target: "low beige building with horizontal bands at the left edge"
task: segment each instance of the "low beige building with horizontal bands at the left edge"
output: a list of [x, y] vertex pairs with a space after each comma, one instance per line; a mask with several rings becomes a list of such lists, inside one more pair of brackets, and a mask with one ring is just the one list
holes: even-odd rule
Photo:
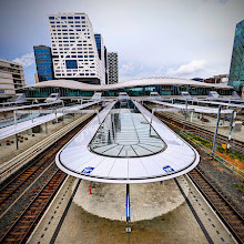
[[26, 85], [20, 63], [0, 59], [0, 98], [7, 99]]

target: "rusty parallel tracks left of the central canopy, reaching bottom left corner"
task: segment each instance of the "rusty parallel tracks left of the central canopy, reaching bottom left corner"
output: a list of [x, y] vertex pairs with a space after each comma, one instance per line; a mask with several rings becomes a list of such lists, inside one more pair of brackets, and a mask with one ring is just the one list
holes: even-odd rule
[[54, 162], [57, 152], [93, 116], [37, 156], [0, 186], [0, 243], [24, 243], [67, 174]]

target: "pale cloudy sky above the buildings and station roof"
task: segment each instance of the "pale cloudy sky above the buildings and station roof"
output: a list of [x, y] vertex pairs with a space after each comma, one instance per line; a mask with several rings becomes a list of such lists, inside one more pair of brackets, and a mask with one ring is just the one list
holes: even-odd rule
[[228, 73], [244, 0], [0, 0], [0, 58], [21, 62], [34, 83], [33, 45], [50, 45], [48, 14], [88, 13], [120, 80]]

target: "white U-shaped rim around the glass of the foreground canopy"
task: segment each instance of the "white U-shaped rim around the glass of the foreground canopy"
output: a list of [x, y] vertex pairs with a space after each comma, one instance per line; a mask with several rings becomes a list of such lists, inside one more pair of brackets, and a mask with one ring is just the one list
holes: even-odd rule
[[[99, 115], [103, 121], [115, 102], [108, 105]], [[151, 113], [134, 102], [148, 121]], [[166, 149], [150, 156], [109, 157], [89, 151], [88, 145], [100, 124], [95, 116], [77, 136], [60, 150], [57, 165], [65, 173], [88, 181], [104, 183], [149, 183], [180, 176], [194, 169], [199, 153], [177, 134], [153, 116], [152, 125]]]

